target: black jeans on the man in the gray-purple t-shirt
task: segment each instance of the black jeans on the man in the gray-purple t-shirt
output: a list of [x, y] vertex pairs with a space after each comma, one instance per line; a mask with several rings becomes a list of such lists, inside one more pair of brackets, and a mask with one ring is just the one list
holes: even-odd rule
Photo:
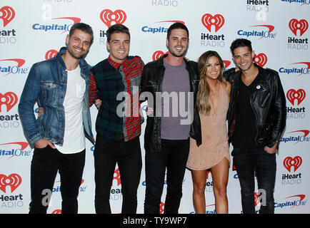
[[167, 191], [164, 213], [178, 213], [188, 157], [189, 140], [161, 140], [161, 151], [146, 151], [146, 195], [144, 213], [159, 214], [166, 172]]

